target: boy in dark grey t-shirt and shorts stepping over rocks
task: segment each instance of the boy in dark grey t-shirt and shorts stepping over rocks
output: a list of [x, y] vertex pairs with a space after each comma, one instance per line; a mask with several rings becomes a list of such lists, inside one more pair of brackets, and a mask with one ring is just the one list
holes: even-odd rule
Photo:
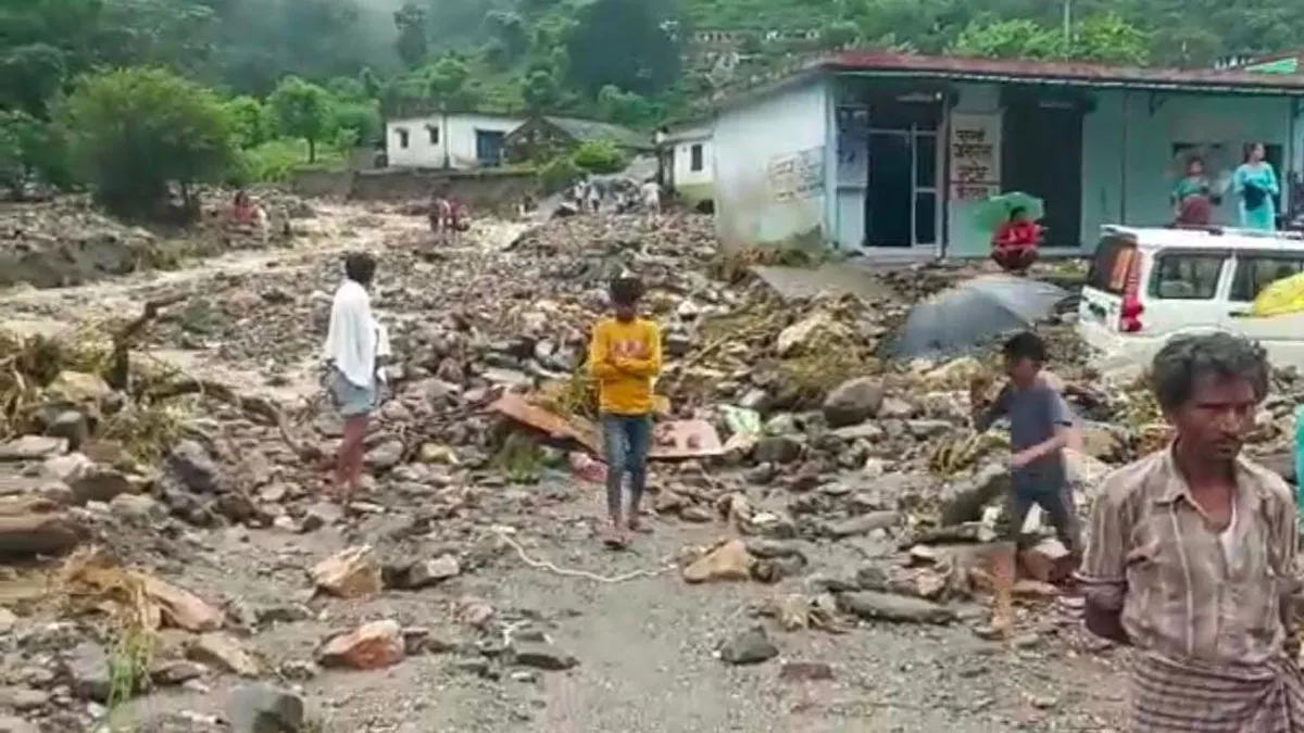
[[[1041, 373], [1046, 364], [1046, 343], [1037, 334], [1022, 333], [1011, 338], [1001, 353], [1009, 382], [990, 407], [977, 412], [974, 426], [985, 432], [998, 419], [1009, 419], [1013, 455], [1009, 458], [1009, 530], [1005, 540], [1015, 543], [1018, 539], [1028, 511], [1035, 503], [1046, 513], [1076, 563], [1082, 540], [1064, 468], [1064, 449], [1076, 442], [1073, 412]], [[998, 620], [994, 626], [1008, 623], [1008, 614], [1003, 613], [1008, 597], [1003, 597], [1003, 591], [1013, 586], [1015, 574], [1013, 552], [1008, 556], [996, 569]]]

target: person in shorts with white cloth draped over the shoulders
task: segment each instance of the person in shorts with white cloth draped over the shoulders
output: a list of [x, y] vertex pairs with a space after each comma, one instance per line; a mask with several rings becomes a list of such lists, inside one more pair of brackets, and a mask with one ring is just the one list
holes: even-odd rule
[[363, 480], [366, 424], [377, 406], [379, 357], [387, 352], [386, 334], [372, 314], [368, 288], [376, 277], [376, 258], [352, 253], [344, 258], [344, 282], [330, 309], [323, 357], [330, 368], [330, 390], [344, 417], [344, 434], [335, 468], [335, 494], [343, 503]]

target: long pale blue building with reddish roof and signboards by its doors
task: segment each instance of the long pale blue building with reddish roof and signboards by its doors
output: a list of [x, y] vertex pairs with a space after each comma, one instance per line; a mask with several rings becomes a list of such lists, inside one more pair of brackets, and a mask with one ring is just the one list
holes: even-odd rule
[[717, 104], [716, 226], [726, 248], [985, 256], [974, 209], [1024, 190], [1046, 202], [1047, 249], [1081, 253], [1102, 224], [1167, 223], [1192, 149], [1218, 175], [1262, 142], [1291, 180], [1301, 99], [1304, 76], [844, 52]]

